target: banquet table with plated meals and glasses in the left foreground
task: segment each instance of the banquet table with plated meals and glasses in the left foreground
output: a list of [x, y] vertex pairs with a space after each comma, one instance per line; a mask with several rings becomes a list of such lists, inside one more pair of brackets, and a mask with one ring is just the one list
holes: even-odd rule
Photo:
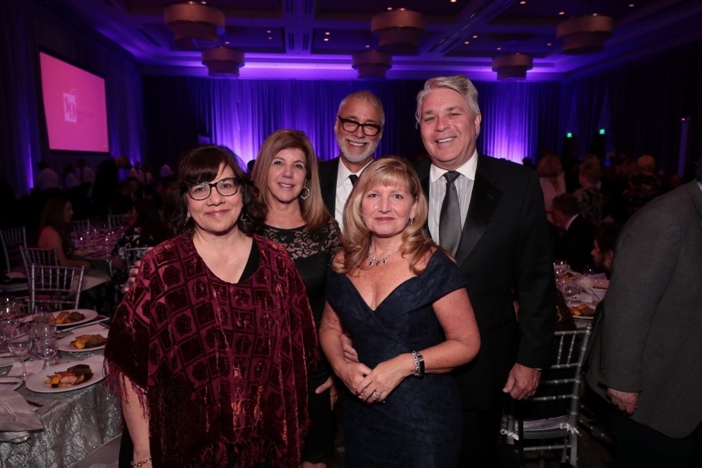
[[34, 312], [8, 319], [0, 308], [2, 467], [70, 466], [120, 433], [103, 381], [107, 317], [59, 325], [57, 312]]

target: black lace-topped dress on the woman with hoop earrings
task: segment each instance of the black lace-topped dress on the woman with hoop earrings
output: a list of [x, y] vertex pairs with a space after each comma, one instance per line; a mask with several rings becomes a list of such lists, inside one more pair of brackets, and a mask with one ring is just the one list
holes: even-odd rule
[[[330, 219], [322, 229], [307, 232], [305, 227], [282, 229], [264, 226], [260, 235], [285, 247], [307, 290], [307, 298], [312, 309], [314, 322], [319, 329], [324, 308], [324, 297], [329, 263], [341, 247], [339, 225]], [[309, 418], [310, 428], [305, 438], [302, 460], [323, 462], [333, 452], [336, 432], [334, 415], [329, 404], [329, 391], [316, 394], [314, 390], [331, 375], [329, 363], [322, 357], [316, 369], [309, 372]]]

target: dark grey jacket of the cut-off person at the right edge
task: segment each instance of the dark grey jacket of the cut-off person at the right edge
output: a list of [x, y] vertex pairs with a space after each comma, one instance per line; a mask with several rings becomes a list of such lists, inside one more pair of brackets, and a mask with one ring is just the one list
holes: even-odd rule
[[702, 190], [644, 205], [621, 232], [588, 383], [640, 392], [631, 418], [671, 438], [702, 421]]

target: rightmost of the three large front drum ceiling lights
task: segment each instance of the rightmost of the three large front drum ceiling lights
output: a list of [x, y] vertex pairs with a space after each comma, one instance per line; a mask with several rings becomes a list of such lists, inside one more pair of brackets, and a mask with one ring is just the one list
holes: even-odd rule
[[558, 24], [556, 37], [563, 42], [564, 54], [594, 54], [604, 49], [604, 40], [613, 32], [614, 18], [611, 16], [576, 16]]

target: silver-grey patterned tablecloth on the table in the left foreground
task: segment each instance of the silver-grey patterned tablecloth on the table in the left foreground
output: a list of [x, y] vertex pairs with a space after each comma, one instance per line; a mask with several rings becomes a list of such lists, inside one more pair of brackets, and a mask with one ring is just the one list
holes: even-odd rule
[[[64, 353], [62, 359], [82, 360], [102, 353]], [[10, 367], [0, 368], [5, 375]], [[43, 430], [30, 433], [21, 443], [0, 442], [0, 467], [60, 468], [83, 460], [90, 452], [121, 433], [120, 401], [101, 380], [88, 387], [61, 393], [16, 390], [25, 399], [42, 404], [35, 410]]]

